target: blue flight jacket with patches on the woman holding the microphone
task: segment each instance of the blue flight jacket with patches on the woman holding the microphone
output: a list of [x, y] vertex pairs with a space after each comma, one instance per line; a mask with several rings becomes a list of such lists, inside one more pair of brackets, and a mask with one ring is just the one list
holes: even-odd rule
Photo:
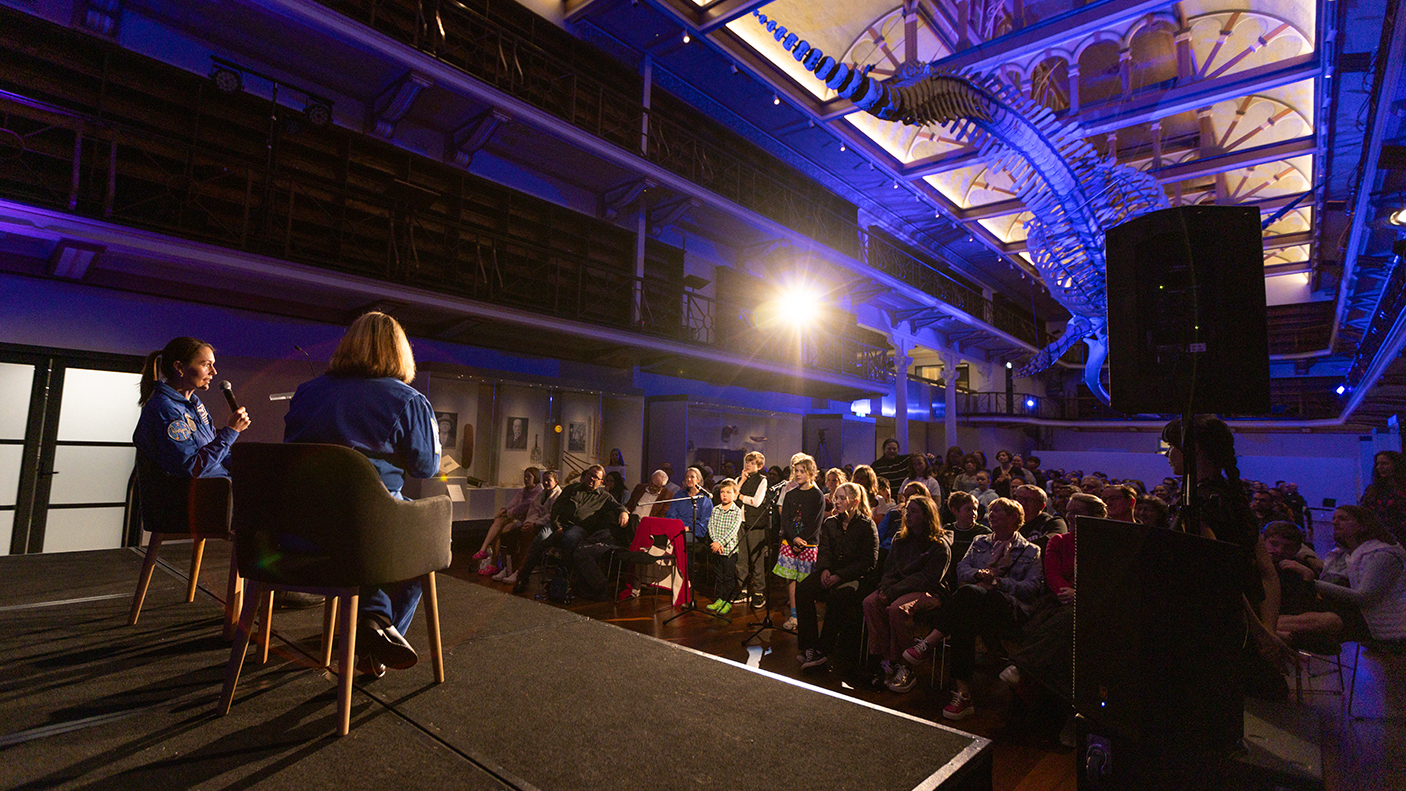
[[132, 431], [136, 450], [174, 478], [228, 478], [225, 458], [238, 437], [229, 426], [215, 429], [195, 393], [186, 398], [166, 382], [156, 384]]

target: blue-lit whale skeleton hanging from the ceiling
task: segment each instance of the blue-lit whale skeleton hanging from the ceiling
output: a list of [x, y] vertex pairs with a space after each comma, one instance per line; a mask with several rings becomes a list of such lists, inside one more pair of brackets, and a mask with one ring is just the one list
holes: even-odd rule
[[931, 65], [915, 77], [876, 80], [868, 69], [835, 60], [761, 11], [752, 17], [797, 62], [839, 97], [883, 121], [945, 125], [976, 148], [994, 171], [1011, 174], [1015, 194], [1033, 215], [1026, 247], [1050, 295], [1071, 319], [1064, 333], [1017, 375], [1038, 374], [1070, 347], [1088, 344], [1084, 382], [1104, 403], [1099, 370], [1108, 354], [1104, 230], [1167, 207], [1161, 187], [1139, 170], [1105, 160], [1073, 124], [990, 74]]

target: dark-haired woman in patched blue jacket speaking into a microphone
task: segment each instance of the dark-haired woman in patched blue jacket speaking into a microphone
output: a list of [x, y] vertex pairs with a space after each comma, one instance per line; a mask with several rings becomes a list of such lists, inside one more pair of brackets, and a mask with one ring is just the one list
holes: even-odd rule
[[132, 443], [138, 452], [173, 478], [229, 476], [225, 458], [239, 433], [249, 427], [240, 407], [215, 429], [195, 391], [208, 391], [215, 379], [215, 350], [193, 337], [177, 337], [146, 355]]

